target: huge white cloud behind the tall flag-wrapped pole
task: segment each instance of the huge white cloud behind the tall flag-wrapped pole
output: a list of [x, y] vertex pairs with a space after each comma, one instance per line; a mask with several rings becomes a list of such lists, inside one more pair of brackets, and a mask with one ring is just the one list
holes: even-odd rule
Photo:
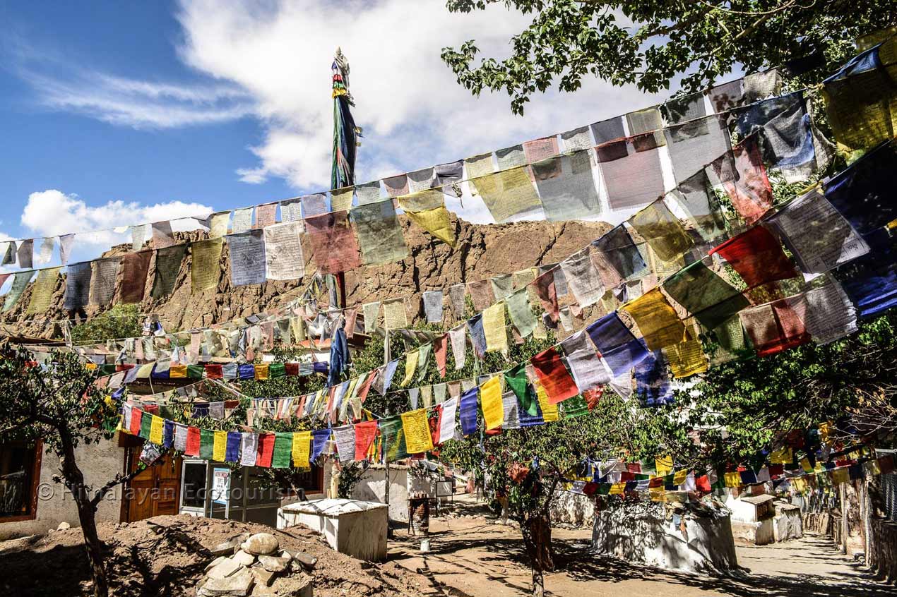
[[301, 189], [328, 186], [337, 45], [352, 67], [353, 114], [364, 128], [360, 180], [560, 133], [660, 97], [590, 79], [574, 94], [534, 96], [525, 117], [511, 115], [504, 94], [474, 98], [455, 82], [440, 49], [476, 39], [487, 56], [507, 54], [510, 36], [528, 19], [501, 5], [452, 14], [442, 2], [422, 0], [181, 0], [178, 16], [187, 65], [257, 101], [266, 136], [250, 148], [257, 164], [238, 172], [248, 183], [283, 177]]

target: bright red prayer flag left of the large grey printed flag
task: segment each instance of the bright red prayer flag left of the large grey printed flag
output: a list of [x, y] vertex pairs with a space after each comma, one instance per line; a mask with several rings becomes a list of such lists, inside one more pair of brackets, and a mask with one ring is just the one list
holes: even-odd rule
[[761, 226], [742, 232], [713, 248], [753, 288], [771, 281], [789, 280], [797, 276], [794, 265], [782, 250], [779, 239]]

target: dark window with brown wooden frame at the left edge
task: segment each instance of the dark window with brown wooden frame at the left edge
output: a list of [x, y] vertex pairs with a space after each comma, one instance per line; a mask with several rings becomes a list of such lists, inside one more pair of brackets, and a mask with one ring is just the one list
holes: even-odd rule
[[40, 448], [40, 442], [0, 444], [0, 523], [34, 519]]

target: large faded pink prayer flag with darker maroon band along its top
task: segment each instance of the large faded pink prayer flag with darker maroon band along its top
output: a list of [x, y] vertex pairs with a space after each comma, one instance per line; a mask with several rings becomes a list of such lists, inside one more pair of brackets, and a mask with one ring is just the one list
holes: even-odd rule
[[[636, 134], [595, 148], [607, 201], [612, 210], [640, 207], [664, 194], [664, 176], [658, 150], [664, 143], [659, 135]], [[632, 184], [635, 179], [639, 180], [638, 185]]]

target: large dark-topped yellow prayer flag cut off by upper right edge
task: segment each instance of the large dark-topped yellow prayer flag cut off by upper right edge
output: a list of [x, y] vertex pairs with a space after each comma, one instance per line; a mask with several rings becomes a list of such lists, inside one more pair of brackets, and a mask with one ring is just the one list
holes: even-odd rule
[[823, 82], [825, 112], [843, 150], [862, 150], [897, 134], [897, 39], [854, 56]]

